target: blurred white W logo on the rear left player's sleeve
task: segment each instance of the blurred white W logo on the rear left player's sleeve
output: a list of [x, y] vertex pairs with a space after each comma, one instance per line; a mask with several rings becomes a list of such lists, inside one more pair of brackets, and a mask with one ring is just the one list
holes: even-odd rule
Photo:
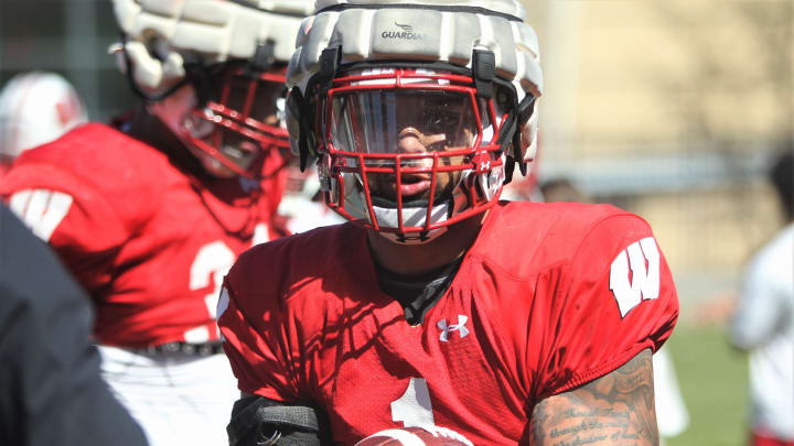
[[57, 191], [24, 189], [11, 196], [9, 207], [40, 239], [50, 241], [74, 199]]

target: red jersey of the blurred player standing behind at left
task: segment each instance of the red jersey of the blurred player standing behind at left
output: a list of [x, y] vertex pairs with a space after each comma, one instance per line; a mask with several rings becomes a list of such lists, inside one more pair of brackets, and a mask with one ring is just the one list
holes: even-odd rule
[[92, 295], [98, 341], [132, 348], [216, 339], [223, 276], [271, 237], [275, 208], [256, 187], [201, 182], [97, 123], [22, 153], [0, 196]]

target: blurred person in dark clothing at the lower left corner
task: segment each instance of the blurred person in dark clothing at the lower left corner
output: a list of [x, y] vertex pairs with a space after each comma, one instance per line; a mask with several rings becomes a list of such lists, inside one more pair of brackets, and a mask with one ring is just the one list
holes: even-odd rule
[[146, 445], [99, 377], [92, 320], [79, 285], [0, 204], [1, 445]]

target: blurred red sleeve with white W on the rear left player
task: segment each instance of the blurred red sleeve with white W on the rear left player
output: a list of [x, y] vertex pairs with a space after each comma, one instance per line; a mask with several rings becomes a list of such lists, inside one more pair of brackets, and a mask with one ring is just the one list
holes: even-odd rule
[[96, 187], [52, 164], [22, 163], [3, 177], [0, 196], [86, 290], [108, 284], [129, 231]]

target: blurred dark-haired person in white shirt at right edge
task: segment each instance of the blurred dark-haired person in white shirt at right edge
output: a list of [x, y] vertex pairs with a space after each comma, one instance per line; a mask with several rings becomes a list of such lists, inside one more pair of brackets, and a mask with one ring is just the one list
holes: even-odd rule
[[785, 224], [747, 265], [730, 323], [749, 352], [751, 446], [794, 445], [794, 145], [770, 171]]

